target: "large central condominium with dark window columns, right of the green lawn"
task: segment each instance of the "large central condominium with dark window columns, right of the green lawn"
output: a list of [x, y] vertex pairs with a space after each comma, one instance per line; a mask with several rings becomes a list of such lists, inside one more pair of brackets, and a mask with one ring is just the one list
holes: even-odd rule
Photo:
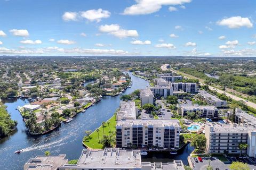
[[116, 146], [179, 148], [178, 120], [125, 120], [117, 121]]

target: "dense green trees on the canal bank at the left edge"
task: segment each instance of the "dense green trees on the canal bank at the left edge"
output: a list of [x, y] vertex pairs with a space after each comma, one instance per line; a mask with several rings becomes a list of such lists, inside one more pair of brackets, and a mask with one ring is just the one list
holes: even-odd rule
[[6, 111], [6, 106], [0, 102], [0, 139], [9, 135], [17, 126]]

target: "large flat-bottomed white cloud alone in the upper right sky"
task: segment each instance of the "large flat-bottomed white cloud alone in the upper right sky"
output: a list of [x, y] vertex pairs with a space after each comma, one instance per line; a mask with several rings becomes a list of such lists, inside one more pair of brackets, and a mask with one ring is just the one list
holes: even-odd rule
[[217, 21], [217, 24], [227, 26], [228, 28], [253, 27], [253, 24], [249, 18], [243, 18], [241, 16], [232, 16], [230, 18], [222, 19]]

